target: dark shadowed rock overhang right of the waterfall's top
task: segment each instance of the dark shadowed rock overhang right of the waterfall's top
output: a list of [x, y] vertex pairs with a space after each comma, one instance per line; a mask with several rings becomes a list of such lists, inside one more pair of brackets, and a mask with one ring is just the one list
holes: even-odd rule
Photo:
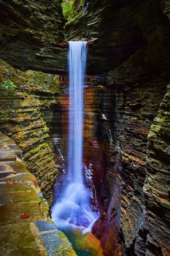
[[[143, 45], [150, 44], [152, 55], [153, 45], [161, 45], [163, 38], [169, 37], [169, 21], [163, 15], [163, 8], [169, 13], [169, 7], [163, 1], [83, 2], [82, 7], [76, 5], [72, 18], [66, 23], [65, 37], [93, 42], [89, 46], [89, 73], [114, 69]], [[169, 55], [166, 42], [161, 50]], [[164, 58], [167, 58], [166, 54], [163, 54]]]

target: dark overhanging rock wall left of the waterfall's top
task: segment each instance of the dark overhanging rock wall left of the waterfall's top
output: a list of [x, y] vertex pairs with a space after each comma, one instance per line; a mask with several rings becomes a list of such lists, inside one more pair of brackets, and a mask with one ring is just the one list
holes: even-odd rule
[[1, 59], [20, 69], [63, 72], [61, 1], [0, 1]]

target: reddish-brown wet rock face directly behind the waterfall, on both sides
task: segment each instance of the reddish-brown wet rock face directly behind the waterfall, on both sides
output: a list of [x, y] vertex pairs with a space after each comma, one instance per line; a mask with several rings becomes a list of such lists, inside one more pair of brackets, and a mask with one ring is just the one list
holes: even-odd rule
[[[50, 140], [53, 140], [53, 146], [58, 146], [66, 163], [69, 101], [68, 90], [64, 91], [65, 94], [58, 96], [60, 108], [55, 109], [52, 123], [48, 120], [47, 124], [53, 127], [50, 129]], [[84, 102], [83, 173], [90, 192], [92, 208], [106, 211], [103, 214], [105, 217], [96, 222], [93, 234], [101, 241], [104, 255], [121, 255], [123, 249], [117, 234], [120, 222], [120, 176], [113, 166], [119, 159], [119, 152], [115, 149], [115, 133], [120, 133], [122, 127], [123, 94], [119, 89], [111, 88], [104, 83], [98, 84], [96, 77], [92, 83], [85, 86]], [[56, 143], [57, 141], [59, 143]], [[57, 198], [66, 180], [66, 166], [62, 165], [58, 150], [55, 154], [58, 155], [56, 163], [59, 165], [55, 183]]]

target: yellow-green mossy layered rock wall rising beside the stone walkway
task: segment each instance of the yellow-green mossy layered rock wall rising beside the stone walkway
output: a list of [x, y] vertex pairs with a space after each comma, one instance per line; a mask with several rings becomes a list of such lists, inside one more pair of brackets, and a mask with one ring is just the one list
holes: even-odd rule
[[[49, 129], [46, 126], [43, 112], [50, 108], [51, 104], [56, 104], [55, 90], [58, 86], [47, 84], [52, 83], [53, 76], [51, 78], [49, 75], [37, 74], [37, 72], [31, 75], [20, 72], [4, 61], [1, 61], [0, 74], [1, 85], [13, 80], [16, 86], [14, 90], [0, 89], [1, 131], [15, 140], [15, 143], [22, 149], [23, 160], [28, 170], [36, 176], [43, 195], [51, 202], [57, 169], [53, 152], [46, 142]], [[49, 86], [50, 89], [48, 89]]]

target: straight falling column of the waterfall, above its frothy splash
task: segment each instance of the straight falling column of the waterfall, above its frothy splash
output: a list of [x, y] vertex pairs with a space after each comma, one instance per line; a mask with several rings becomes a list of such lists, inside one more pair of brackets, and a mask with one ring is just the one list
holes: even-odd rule
[[69, 175], [82, 184], [82, 108], [87, 42], [69, 42]]

